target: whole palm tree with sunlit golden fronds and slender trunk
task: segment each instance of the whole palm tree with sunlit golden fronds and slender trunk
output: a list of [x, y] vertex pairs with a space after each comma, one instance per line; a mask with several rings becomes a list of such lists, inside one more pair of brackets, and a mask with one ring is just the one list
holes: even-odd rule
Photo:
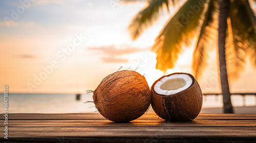
[[[133, 40], [152, 26], [162, 11], [181, 3], [178, 0], [145, 2], [147, 6], [135, 15], [129, 26]], [[224, 113], [233, 113], [228, 76], [237, 77], [247, 57], [256, 65], [255, 5], [256, 0], [186, 0], [155, 39], [152, 51], [157, 54], [156, 68], [162, 71], [173, 68], [184, 47], [196, 40], [192, 69], [199, 78], [218, 39]]]

